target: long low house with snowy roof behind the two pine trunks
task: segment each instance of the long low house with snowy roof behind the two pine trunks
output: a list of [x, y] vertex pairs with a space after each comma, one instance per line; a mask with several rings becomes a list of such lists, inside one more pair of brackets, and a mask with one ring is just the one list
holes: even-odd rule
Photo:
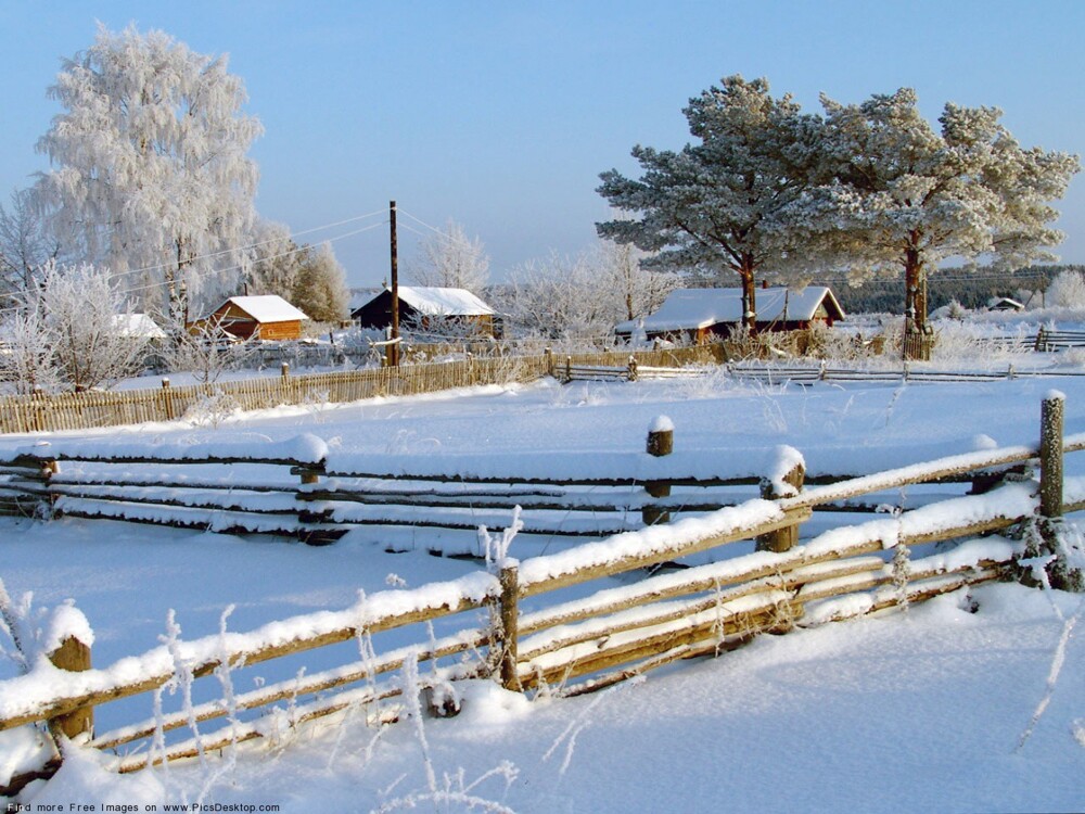
[[[844, 318], [844, 310], [824, 285], [762, 288], [756, 291], [758, 331], [794, 331], [814, 322], [829, 327]], [[742, 325], [741, 289], [677, 289], [660, 309], [614, 327], [618, 339], [690, 340], [698, 344], [726, 339]]]

